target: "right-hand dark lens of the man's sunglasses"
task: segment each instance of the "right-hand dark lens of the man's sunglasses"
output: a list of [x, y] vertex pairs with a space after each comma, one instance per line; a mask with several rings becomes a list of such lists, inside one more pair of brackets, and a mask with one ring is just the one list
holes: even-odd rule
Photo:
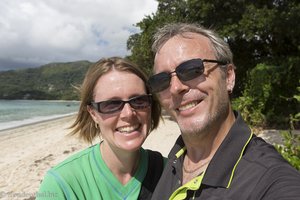
[[180, 64], [176, 68], [176, 74], [181, 81], [189, 81], [203, 74], [203, 62], [200, 59], [193, 59]]

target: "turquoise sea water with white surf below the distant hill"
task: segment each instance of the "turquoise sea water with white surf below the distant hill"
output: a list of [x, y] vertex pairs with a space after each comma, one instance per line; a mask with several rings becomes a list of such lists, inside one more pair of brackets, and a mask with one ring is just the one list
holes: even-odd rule
[[78, 101], [0, 100], [0, 130], [76, 113]]

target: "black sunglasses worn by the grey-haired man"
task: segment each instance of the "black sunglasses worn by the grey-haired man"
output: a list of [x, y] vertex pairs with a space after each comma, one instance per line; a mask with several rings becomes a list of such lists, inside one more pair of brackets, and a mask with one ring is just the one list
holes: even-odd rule
[[204, 72], [204, 62], [217, 63], [220, 65], [226, 65], [226, 62], [218, 60], [208, 59], [192, 59], [185, 61], [176, 67], [173, 72], [161, 72], [151, 76], [148, 80], [148, 86], [154, 93], [161, 92], [170, 86], [171, 77], [173, 73], [176, 73], [177, 77], [181, 81], [189, 81], [196, 77], [199, 77]]

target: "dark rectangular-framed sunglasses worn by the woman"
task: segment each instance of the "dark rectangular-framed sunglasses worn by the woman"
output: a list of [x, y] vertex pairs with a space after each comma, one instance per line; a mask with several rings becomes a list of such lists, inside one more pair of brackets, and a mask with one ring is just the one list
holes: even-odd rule
[[126, 103], [129, 103], [132, 108], [137, 110], [147, 108], [152, 103], [151, 94], [132, 97], [127, 101], [107, 100], [100, 102], [91, 102], [90, 105], [93, 106], [93, 108], [95, 108], [99, 113], [112, 114], [120, 112]]

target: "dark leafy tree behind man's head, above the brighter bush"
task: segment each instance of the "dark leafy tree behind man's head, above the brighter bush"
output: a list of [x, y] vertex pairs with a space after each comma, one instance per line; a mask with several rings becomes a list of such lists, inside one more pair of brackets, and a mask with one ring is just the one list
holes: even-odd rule
[[[170, 22], [199, 23], [215, 29], [226, 40], [237, 66], [237, 90], [244, 88], [247, 71], [258, 63], [285, 65], [287, 56], [299, 57], [296, 0], [158, 0], [158, 10], [136, 26], [141, 33], [130, 36], [129, 58], [150, 71], [153, 63], [152, 36], [158, 27]], [[295, 87], [294, 87], [295, 88]]]

